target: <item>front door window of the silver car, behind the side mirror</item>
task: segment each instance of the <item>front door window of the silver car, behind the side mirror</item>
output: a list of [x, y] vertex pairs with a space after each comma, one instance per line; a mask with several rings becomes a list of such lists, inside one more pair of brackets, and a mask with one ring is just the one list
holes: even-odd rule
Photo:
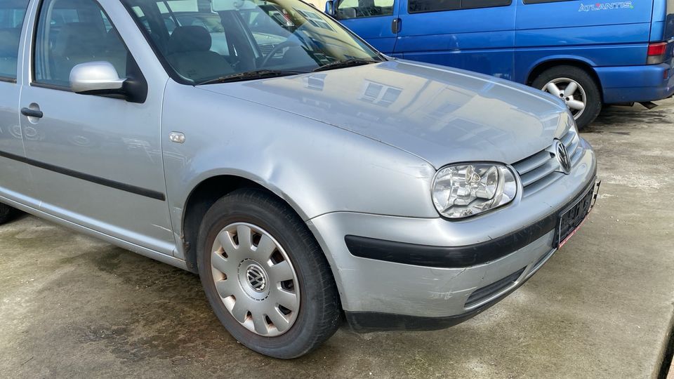
[[126, 77], [128, 51], [117, 29], [93, 0], [46, 0], [41, 6], [34, 51], [35, 81], [70, 87], [75, 65], [104, 60]]

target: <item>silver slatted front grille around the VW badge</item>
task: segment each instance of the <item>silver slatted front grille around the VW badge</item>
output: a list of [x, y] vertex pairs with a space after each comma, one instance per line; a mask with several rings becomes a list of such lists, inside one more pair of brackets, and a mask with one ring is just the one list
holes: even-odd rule
[[[575, 128], [570, 128], [560, 140], [567, 148], [569, 157], [571, 157], [571, 166], [576, 166], [576, 163], [581, 159], [583, 149], [580, 148], [581, 139]], [[557, 161], [552, 147], [550, 145], [547, 149], [513, 164], [517, 173], [520, 174], [522, 187], [524, 187], [524, 197], [548, 187], [555, 180], [564, 176], [560, 171], [560, 162]]]

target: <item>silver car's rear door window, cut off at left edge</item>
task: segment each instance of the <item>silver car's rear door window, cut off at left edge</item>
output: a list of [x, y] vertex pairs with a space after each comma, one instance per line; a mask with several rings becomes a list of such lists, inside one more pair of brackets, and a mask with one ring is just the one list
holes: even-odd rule
[[0, 78], [16, 80], [19, 39], [28, 0], [0, 1]]

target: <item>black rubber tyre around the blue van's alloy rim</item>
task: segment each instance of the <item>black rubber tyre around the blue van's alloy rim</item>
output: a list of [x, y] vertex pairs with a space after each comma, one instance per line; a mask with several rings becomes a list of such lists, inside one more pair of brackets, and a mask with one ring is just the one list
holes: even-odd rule
[[599, 86], [597, 86], [597, 81], [586, 70], [568, 65], [552, 67], [538, 75], [531, 83], [531, 86], [545, 91], [548, 83], [557, 80], [563, 83], [564, 79], [576, 81], [585, 92], [585, 109], [583, 109], [580, 117], [576, 119], [576, 125], [579, 130], [583, 129], [595, 121], [602, 110], [602, 94]]

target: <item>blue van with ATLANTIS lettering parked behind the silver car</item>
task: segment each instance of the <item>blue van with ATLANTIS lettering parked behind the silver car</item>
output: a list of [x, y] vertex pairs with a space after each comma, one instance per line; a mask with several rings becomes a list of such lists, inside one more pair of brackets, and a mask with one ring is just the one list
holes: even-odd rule
[[602, 104], [674, 93], [674, 0], [331, 0], [326, 13], [387, 55], [553, 93], [579, 127]]

